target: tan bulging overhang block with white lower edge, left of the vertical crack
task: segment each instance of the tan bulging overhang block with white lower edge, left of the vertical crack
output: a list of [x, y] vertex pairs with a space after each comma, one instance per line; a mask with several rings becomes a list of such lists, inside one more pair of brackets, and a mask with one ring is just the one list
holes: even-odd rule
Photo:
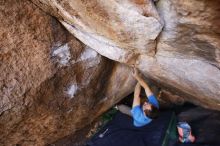
[[151, 0], [33, 0], [99, 54], [131, 63], [154, 55], [163, 21]]

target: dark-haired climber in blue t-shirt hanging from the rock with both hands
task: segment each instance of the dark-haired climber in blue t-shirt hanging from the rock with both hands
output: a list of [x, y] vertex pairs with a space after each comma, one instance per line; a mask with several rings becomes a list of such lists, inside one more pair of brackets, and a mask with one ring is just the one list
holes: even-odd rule
[[[134, 90], [132, 109], [126, 105], [118, 105], [117, 109], [124, 114], [132, 116], [134, 126], [142, 127], [150, 123], [152, 119], [157, 118], [159, 113], [159, 103], [148, 84], [142, 79], [136, 68], [133, 69], [132, 75], [138, 81]], [[145, 94], [148, 97], [148, 99], [144, 101], [143, 105], [141, 105], [140, 97], [141, 86], [144, 88]]]

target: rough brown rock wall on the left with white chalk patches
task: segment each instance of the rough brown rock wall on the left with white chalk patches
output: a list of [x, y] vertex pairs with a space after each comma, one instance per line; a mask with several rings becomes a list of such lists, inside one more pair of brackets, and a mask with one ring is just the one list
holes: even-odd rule
[[131, 92], [133, 78], [121, 73], [129, 68], [82, 44], [31, 2], [4, 1], [0, 11], [0, 145], [52, 143]]

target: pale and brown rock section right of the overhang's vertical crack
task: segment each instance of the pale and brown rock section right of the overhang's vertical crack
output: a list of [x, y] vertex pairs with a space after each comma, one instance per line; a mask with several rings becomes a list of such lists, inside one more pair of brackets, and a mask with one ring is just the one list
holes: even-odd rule
[[165, 25], [149, 73], [186, 100], [219, 110], [219, 1], [160, 0], [157, 8]]

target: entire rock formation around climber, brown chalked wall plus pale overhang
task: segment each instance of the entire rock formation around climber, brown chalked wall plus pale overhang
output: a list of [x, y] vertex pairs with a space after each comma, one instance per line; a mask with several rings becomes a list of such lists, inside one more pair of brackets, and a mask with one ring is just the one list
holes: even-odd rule
[[132, 92], [132, 64], [169, 101], [220, 110], [218, 0], [32, 2], [0, 2], [0, 145], [79, 130]]

